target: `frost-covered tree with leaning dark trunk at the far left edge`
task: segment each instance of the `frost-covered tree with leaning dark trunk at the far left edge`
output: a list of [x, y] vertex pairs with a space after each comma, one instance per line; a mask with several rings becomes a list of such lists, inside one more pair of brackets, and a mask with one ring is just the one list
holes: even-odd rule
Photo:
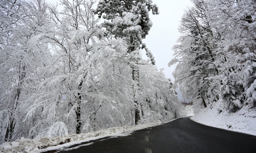
[[[23, 123], [27, 98], [35, 92], [40, 67], [47, 63], [47, 44], [42, 31], [47, 22], [44, 1], [0, 1], [0, 122], [1, 142], [26, 133]], [[5, 136], [4, 136], [5, 135]]]

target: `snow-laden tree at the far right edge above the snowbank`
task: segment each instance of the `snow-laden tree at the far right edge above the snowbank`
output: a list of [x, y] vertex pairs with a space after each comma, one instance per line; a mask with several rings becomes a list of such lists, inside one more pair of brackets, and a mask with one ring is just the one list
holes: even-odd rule
[[[210, 3], [222, 34], [220, 48], [227, 54], [223, 68], [221, 91], [226, 109], [236, 112], [243, 106], [255, 107], [256, 48], [254, 0], [222, 0]], [[224, 26], [223, 26], [224, 25]]]

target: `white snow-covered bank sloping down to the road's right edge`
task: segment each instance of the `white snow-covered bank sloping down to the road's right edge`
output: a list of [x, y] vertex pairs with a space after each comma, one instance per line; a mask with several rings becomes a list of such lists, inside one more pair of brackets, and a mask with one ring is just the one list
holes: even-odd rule
[[236, 113], [220, 112], [218, 107], [205, 108], [191, 117], [198, 123], [230, 131], [256, 135], [256, 110], [247, 107]]

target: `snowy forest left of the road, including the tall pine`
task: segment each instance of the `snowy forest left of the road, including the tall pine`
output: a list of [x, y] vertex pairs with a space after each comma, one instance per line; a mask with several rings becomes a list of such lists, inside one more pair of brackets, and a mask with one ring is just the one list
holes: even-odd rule
[[184, 116], [142, 41], [159, 13], [151, 0], [1, 0], [0, 10], [1, 143]]

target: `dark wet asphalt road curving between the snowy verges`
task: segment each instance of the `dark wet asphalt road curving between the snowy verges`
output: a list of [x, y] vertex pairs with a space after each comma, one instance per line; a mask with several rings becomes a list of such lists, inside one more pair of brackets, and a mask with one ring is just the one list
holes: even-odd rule
[[256, 136], [204, 126], [188, 117], [138, 130], [128, 136], [105, 138], [83, 144], [86, 143], [92, 144], [58, 152], [256, 153]]

